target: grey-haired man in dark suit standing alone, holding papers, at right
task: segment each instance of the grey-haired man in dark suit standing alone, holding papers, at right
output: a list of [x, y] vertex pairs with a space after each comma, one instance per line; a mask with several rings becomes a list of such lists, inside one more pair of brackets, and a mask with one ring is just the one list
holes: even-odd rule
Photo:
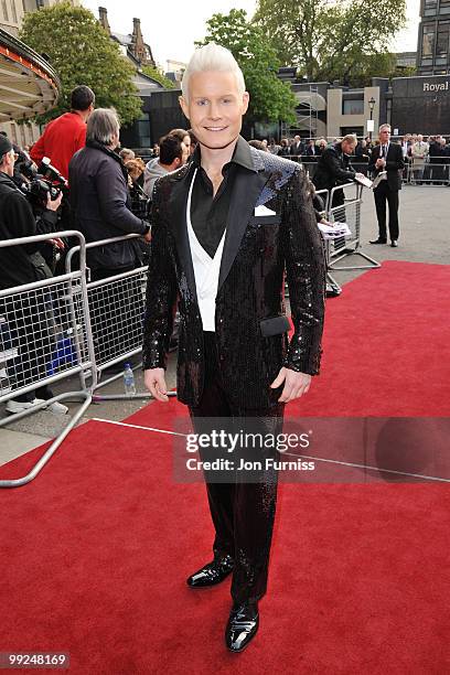
[[387, 244], [386, 231], [386, 202], [389, 206], [389, 237], [390, 246], [398, 246], [398, 191], [401, 190], [401, 174], [405, 169], [405, 160], [401, 146], [390, 142], [390, 126], [382, 125], [378, 130], [379, 144], [374, 148], [368, 170], [374, 178], [386, 171], [385, 180], [382, 180], [374, 189], [376, 217], [378, 219], [378, 238], [372, 239], [371, 244]]

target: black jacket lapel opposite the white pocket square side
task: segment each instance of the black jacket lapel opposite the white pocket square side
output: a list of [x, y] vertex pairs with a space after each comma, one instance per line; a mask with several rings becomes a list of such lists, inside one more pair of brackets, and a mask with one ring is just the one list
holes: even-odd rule
[[185, 274], [188, 287], [197, 302], [194, 266], [192, 262], [191, 246], [189, 244], [186, 205], [192, 171], [186, 172], [174, 181], [169, 201], [170, 225], [173, 231], [175, 246], [181, 267]]

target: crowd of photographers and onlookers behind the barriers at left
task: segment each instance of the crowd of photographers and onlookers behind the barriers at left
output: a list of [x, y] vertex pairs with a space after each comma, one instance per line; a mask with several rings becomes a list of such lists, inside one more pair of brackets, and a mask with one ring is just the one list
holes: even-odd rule
[[[92, 281], [125, 274], [148, 262], [148, 218], [153, 185], [158, 178], [189, 161], [195, 138], [184, 129], [171, 130], [153, 147], [152, 158], [146, 165], [132, 150], [120, 148], [119, 135], [120, 124], [115, 110], [95, 109], [94, 92], [86, 86], [73, 90], [71, 111], [50, 122], [31, 149], [18, 148], [2, 133], [0, 237], [12, 239], [76, 229], [87, 243], [96, 243], [128, 234], [140, 235], [89, 248], [87, 265]], [[50, 158], [50, 167], [44, 158]], [[45, 243], [0, 248], [0, 289], [62, 274], [66, 253], [77, 243], [57, 237]], [[135, 315], [133, 321], [141, 323], [139, 282], [129, 285], [127, 298], [124, 292], [120, 303], [116, 303], [101, 286], [93, 290], [92, 300], [101, 308], [92, 317], [98, 362], [116, 356], [111, 331], [125, 304], [130, 317]], [[8, 326], [8, 344], [20, 345], [17, 358], [6, 368], [9, 383], [15, 387], [30, 384], [32, 374], [36, 381], [46, 375], [49, 354], [43, 353], [43, 345], [52, 342], [54, 324], [54, 317], [44, 320], [52, 314], [51, 294], [34, 297], [30, 293], [25, 304], [23, 315], [19, 317], [15, 308], [0, 301], [2, 325]], [[2, 332], [2, 342], [3, 334], [7, 333]], [[38, 341], [34, 340], [36, 335]], [[53, 392], [49, 387], [38, 387], [8, 400], [7, 411], [21, 413], [51, 398]], [[57, 414], [68, 410], [57, 401], [46, 409]]]

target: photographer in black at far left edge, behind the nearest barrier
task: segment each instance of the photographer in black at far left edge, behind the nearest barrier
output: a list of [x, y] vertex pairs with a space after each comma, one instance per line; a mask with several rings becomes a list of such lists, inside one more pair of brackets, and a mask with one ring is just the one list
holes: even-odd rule
[[[14, 239], [55, 229], [60, 194], [53, 202], [47, 197], [46, 208], [39, 218], [23, 192], [13, 181], [17, 153], [11, 141], [0, 136], [0, 238]], [[0, 288], [8, 289], [52, 277], [52, 272], [40, 253], [40, 244], [0, 248]], [[0, 302], [0, 314], [6, 318], [11, 344], [18, 349], [18, 358], [8, 366], [13, 385], [30, 384], [30, 376], [40, 378], [46, 373], [42, 344], [51, 342], [51, 321], [43, 296], [30, 292], [21, 298], [18, 307], [7, 300]], [[41, 350], [41, 352], [40, 352]], [[41, 387], [11, 399], [9, 413], [20, 413], [31, 406], [52, 398], [49, 387]], [[49, 406], [52, 413], [65, 414], [67, 407], [55, 401]]]

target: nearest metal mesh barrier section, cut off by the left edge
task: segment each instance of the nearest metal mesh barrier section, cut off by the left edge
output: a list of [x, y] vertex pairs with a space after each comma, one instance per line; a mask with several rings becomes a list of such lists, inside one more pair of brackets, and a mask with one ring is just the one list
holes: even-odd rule
[[[79, 240], [78, 271], [0, 290], [0, 403], [86, 371], [92, 371], [93, 388], [96, 386], [83, 235], [65, 231], [0, 242], [0, 247], [40, 244], [55, 237]], [[1, 480], [0, 488], [24, 485], [39, 474], [90, 405], [92, 390], [60, 394], [0, 420], [0, 427], [4, 427], [68, 398], [79, 399], [82, 405], [63, 431], [26, 475]]]

